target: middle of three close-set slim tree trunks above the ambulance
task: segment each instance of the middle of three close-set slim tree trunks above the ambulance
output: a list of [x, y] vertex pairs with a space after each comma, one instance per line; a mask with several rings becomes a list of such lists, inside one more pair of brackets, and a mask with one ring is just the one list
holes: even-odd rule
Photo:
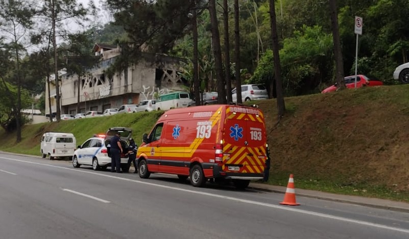
[[223, 20], [224, 20], [224, 61], [225, 61], [225, 81], [227, 102], [232, 102], [231, 79], [230, 79], [230, 39], [229, 39], [229, 6], [227, 0], [223, 0]]

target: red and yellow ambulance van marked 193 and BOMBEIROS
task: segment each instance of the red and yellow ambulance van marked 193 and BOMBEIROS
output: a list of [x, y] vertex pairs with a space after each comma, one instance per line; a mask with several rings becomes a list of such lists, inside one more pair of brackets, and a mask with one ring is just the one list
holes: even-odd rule
[[244, 189], [262, 179], [267, 154], [264, 115], [241, 105], [202, 105], [166, 111], [138, 148], [138, 173], [190, 177], [195, 187], [208, 179], [231, 179]]

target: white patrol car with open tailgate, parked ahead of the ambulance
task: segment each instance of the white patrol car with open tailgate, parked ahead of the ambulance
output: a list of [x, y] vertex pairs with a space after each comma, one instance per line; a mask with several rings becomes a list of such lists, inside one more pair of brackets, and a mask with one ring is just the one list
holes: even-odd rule
[[[126, 152], [128, 140], [132, 136], [132, 129], [124, 127], [109, 128], [105, 135], [94, 135], [78, 146], [73, 155], [73, 166], [79, 168], [81, 165], [89, 165], [92, 166], [93, 170], [105, 170], [110, 167], [109, 143], [117, 132], [121, 135], [121, 145]], [[125, 153], [121, 154], [121, 168], [124, 172], [129, 171], [128, 156], [125, 156]]]

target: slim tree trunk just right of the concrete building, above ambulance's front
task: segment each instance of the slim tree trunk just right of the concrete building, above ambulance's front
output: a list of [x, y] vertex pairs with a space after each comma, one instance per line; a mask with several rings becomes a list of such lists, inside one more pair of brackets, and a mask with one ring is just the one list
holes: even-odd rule
[[196, 9], [194, 10], [193, 23], [193, 87], [195, 91], [196, 105], [201, 105], [200, 99], [200, 80], [199, 80], [199, 63], [198, 63], [198, 16]]

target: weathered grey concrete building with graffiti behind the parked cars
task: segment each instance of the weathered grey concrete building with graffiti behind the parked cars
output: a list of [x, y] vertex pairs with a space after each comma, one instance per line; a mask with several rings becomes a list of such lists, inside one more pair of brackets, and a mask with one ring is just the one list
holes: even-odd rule
[[[120, 53], [119, 48], [111, 45], [95, 44], [95, 56], [101, 56], [100, 62], [88, 69], [78, 80], [78, 75], [61, 71], [60, 100], [61, 114], [75, 115], [79, 102], [80, 112], [104, 111], [119, 108], [122, 104], [139, 103], [144, 99], [153, 99], [156, 95], [180, 91], [188, 83], [179, 73], [183, 59], [169, 56], [143, 53], [142, 59], [122, 72], [115, 72], [112, 77], [106, 69]], [[51, 108], [56, 110], [55, 77], [51, 77]], [[78, 91], [78, 84], [80, 90]], [[47, 94], [46, 84], [46, 94]], [[79, 99], [78, 99], [79, 96]], [[49, 110], [49, 99], [45, 97], [45, 109]]]

